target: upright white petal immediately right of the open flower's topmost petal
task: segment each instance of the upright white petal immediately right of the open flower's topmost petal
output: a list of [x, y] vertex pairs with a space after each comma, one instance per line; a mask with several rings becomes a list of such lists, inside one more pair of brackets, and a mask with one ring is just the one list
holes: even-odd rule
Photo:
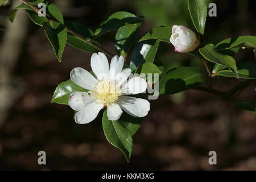
[[123, 69], [123, 56], [114, 56], [110, 63], [110, 80], [115, 80], [115, 76]]

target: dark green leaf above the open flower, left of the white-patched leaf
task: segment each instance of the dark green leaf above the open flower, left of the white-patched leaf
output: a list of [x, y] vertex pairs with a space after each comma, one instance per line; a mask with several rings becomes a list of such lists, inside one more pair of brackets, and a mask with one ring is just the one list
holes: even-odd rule
[[133, 46], [140, 26], [141, 23], [136, 23], [118, 29], [117, 34], [115, 34], [115, 49], [117, 49], [119, 55], [127, 56], [131, 46]]

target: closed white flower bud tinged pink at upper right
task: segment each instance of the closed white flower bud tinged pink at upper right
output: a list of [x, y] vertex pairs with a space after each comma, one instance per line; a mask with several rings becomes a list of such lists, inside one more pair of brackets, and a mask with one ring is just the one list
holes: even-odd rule
[[177, 25], [172, 26], [170, 42], [174, 45], [176, 52], [190, 52], [200, 44], [200, 40], [192, 30]]

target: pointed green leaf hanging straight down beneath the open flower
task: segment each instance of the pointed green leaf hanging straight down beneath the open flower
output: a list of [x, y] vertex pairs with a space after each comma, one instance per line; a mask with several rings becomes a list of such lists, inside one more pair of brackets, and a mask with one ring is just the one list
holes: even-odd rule
[[131, 151], [133, 150], [131, 132], [121, 122], [109, 121], [106, 110], [102, 117], [102, 127], [109, 143], [119, 148], [125, 155], [127, 162], [130, 162]]

